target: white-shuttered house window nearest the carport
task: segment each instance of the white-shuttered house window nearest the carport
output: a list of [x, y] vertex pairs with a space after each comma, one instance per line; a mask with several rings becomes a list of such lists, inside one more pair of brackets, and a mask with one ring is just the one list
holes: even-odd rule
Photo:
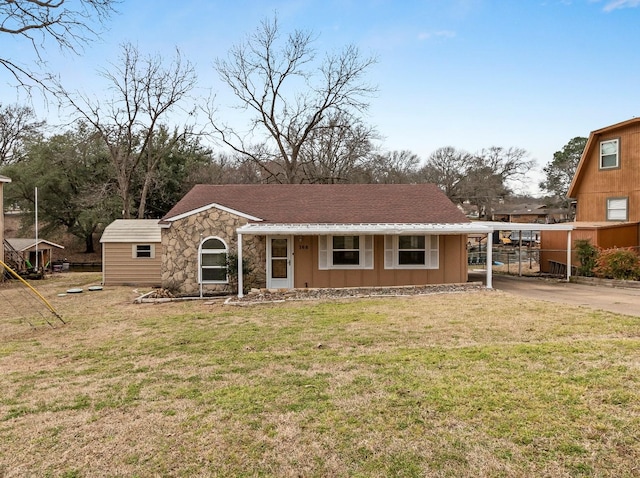
[[385, 269], [437, 269], [439, 236], [384, 237]]

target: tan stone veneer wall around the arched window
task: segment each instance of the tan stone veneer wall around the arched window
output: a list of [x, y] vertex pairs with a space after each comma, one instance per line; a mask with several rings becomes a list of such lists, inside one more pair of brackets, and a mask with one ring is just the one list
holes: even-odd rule
[[[208, 237], [219, 237], [226, 242], [230, 254], [238, 252], [236, 229], [248, 221], [240, 216], [211, 208], [173, 221], [162, 230], [162, 287], [180, 295], [198, 295], [198, 249]], [[242, 236], [242, 255], [252, 268], [244, 276], [244, 286], [265, 287], [266, 247], [262, 236]], [[204, 284], [205, 292], [237, 293], [234, 284]]]

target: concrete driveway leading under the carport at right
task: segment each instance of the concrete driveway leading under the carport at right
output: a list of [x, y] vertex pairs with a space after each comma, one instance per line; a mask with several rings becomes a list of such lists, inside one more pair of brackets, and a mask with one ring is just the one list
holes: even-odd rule
[[[469, 273], [469, 280], [482, 281], [484, 273]], [[557, 279], [493, 275], [493, 288], [532, 299], [601, 309], [640, 317], [640, 289], [574, 284]]]

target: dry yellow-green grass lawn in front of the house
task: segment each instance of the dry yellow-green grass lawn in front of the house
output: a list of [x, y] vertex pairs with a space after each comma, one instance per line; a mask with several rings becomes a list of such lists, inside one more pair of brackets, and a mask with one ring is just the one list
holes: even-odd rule
[[54, 327], [0, 286], [2, 477], [640, 476], [636, 318], [496, 291], [134, 305], [99, 280], [35, 284]]

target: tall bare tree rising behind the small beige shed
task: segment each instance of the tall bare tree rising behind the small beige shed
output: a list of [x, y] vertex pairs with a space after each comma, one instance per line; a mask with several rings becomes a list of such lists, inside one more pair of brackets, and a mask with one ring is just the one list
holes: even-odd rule
[[[153, 175], [167, 148], [172, 148], [188, 134], [186, 127], [180, 133], [176, 131], [173, 135], [165, 134], [164, 138], [155, 139], [156, 135], [164, 134], [160, 130], [161, 121], [180, 106], [195, 86], [196, 74], [178, 50], [165, 65], [159, 55], [142, 58], [136, 47], [125, 44], [120, 61], [101, 73], [110, 84], [113, 95], [110, 100], [100, 102], [62, 87], [57, 94], [98, 131], [107, 145], [116, 171], [122, 216], [130, 218], [132, 185], [141, 164], [145, 165], [145, 174]], [[146, 179], [143, 184], [147, 184]], [[139, 218], [145, 214], [147, 191], [148, 188], [143, 188], [139, 198]]]

